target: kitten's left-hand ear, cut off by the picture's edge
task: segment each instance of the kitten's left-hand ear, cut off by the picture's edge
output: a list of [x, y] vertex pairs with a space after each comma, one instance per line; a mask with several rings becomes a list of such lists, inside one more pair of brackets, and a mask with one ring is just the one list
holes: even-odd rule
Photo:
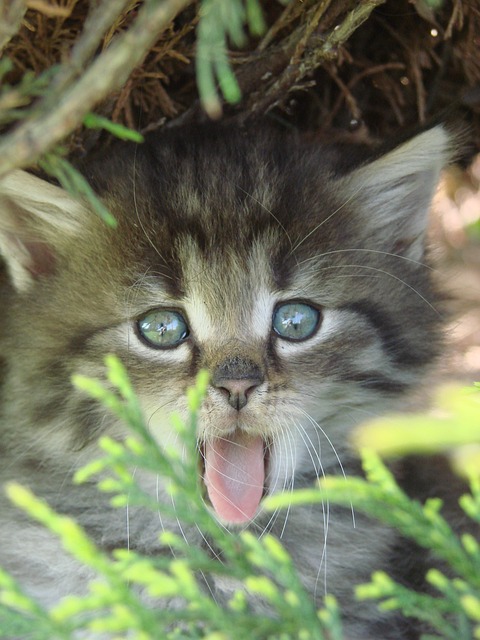
[[25, 171], [0, 180], [0, 255], [18, 291], [54, 271], [56, 251], [85, 214], [66, 191]]

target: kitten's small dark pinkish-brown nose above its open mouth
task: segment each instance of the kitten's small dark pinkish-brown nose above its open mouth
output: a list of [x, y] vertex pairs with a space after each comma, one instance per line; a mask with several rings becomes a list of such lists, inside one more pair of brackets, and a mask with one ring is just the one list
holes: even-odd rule
[[255, 362], [242, 356], [233, 356], [216, 368], [212, 386], [227, 395], [230, 406], [240, 411], [263, 380], [262, 371]]

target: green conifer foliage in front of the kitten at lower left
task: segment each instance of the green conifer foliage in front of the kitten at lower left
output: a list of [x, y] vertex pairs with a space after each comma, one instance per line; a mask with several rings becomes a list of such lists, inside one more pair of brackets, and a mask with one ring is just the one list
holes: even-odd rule
[[[143, 468], [168, 477], [168, 491], [175, 499], [175, 508], [171, 500], [167, 501], [160, 507], [162, 516], [170, 515], [175, 521], [179, 518], [183, 525], [198, 525], [212, 540], [222, 560], [212, 559], [206, 550], [190, 546], [172, 532], [161, 535], [162, 542], [172, 550], [172, 557], [146, 558], [125, 549], [114, 551], [110, 557], [70, 518], [55, 514], [30, 491], [11, 484], [7, 490], [12, 501], [53, 531], [63, 547], [96, 577], [87, 595], [66, 596], [46, 611], [1, 573], [0, 637], [9, 637], [21, 628], [21, 637], [32, 640], [68, 638], [74, 630], [142, 640], [159, 637], [340, 640], [335, 600], [329, 598], [320, 612], [315, 610], [278, 540], [268, 534], [257, 539], [250, 532], [228, 533], [205, 507], [199, 488], [195, 438], [196, 416], [208, 382], [205, 373], [199, 375], [196, 388], [188, 392], [189, 423], [183, 424], [178, 417], [173, 419], [185, 445], [181, 458], [176, 450], [163, 451], [157, 447], [123, 366], [113, 357], [108, 358], [107, 364], [109, 386], [114, 391], [81, 376], [76, 376], [74, 382], [128, 422], [135, 435], [124, 443], [103, 438], [100, 446], [104, 456], [81, 470], [76, 481], [100, 474], [99, 489], [112, 493], [112, 504], [138, 505], [157, 513], [157, 499], [138, 486], [132, 469]], [[226, 607], [219, 606], [205, 589], [204, 577], [213, 573], [238, 581], [239, 587]], [[158, 606], [145, 605], [140, 591]], [[247, 593], [263, 599], [278, 616], [253, 613]], [[172, 601], [175, 606], [167, 607]]]

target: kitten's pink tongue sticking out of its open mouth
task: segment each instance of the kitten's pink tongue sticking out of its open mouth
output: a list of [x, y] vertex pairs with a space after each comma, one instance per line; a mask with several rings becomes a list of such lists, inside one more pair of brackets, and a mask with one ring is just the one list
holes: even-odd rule
[[226, 522], [248, 522], [263, 494], [263, 440], [242, 431], [205, 443], [205, 485], [216, 513]]

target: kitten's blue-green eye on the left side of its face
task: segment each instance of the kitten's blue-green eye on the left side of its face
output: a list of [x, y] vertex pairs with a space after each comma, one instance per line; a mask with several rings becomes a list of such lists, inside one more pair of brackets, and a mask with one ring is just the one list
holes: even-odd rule
[[137, 320], [142, 338], [152, 347], [168, 349], [178, 346], [188, 336], [188, 325], [178, 311], [155, 309]]

